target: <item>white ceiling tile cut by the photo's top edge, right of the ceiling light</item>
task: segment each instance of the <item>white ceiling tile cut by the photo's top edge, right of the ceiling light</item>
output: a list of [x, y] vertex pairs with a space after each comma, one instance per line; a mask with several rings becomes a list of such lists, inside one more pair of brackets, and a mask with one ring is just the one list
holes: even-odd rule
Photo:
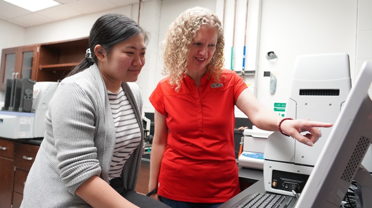
[[80, 0], [65, 5], [84, 14], [102, 12], [116, 7], [116, 5], [110, 1], [103, 0]]

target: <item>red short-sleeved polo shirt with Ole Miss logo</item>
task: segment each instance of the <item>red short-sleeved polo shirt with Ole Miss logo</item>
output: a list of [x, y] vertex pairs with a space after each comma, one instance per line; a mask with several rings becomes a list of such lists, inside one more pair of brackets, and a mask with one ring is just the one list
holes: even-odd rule
[[167, 116], [169, 128], [158, 179], [160, 196], [218, 203], [239, 193], [234, 105], [246, 88], [231, 70], [224, 70], [219, 82], [204, 75], [199, 89], [188, 76], [179, 92], [168, 84], [168, 78], [158, 83], [150, 102]]

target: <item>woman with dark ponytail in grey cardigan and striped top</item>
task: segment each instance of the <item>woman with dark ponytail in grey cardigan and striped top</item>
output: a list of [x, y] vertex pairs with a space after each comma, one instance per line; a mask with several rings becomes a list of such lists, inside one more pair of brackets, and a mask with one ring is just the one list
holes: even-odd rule
[[21, 207], [167, 207], [134, 191], [144, 144], [134, 82], [148, 38], [122, 14], [97, 19], [86, 58], [49, 103]]

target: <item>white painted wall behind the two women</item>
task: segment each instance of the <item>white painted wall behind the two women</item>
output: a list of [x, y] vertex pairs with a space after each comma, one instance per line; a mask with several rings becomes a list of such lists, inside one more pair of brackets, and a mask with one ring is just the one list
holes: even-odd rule
[[[325, 2], [329, 2], [325, 4]], [[357, 2], [357, 3], [356, 3]], [[230, 68], [230, 51], [232, 46], [232, 22], [234, 18], [234, 1], [225, 0], [225, 68]], [[139, 4], [119, 7], [105, 13], [119, 12], [138, 18]], [[166, 27], [183, 10], [192, 6], [209, 7], [223, 19], [224, 0], [153, 0], [141, 3], [140, 25], [151, 33], [148, 45], [146, 64], [142, 69], [137, 83], [140, 85], [144, 97], [144, 111], [153, 112], [148, 102], [152, 90], [157, 82], [163, 78], [160, 74], [161, 50], [160, 42], [164, 38]], [[343, 13], [343, 15], [339, 15]], [[74, 39], [89, 35], [94, 21], [104, 13], [90, 14], [70, 20], [45, 24], [41, 26], [23, 28], [0, 20], [0, 49], [33, 43], [45, 43], [58, 40]], [[327, 15], [328, 14], [328, 15]], [[332, 15], [336, 14], [337, 19]], [[237, 0], [234, 69], [241, 70], [244, 24], [246, 15], [246, 0]], [[280, 20], [280, 21], [279, 21]], [[296, 23], [296, 21], [302, 20]], [[334, 20], [334, 25], [330, 25]], [[274, 24], [279, 22], [280, 27]], [[245, 81], [259, 100], [272, 109], [273, 102], [286, 102], [288, 93], [288, 76], [293, 69], [295, 55], [318, 52], [347, 52], [350, 55], [351, 68], [358, 72], [362, 62], [372, 60], [372, 2], [370, 0], [249, 0], [248, 23], [246, 38], [246, 70], [256, 70], [255, 76], [246, 76]], [[347, 28], [347, 34], [327, 35], [330, 28], [341, 31], [342, 25], [353, 25]], [[262, 28], [261, 28], [262, 27]], [[308, 30], [312, 28], [312, 30]], [[304, 31], [318, 34], [311, 37]], [[344, 31], [345, 32], [345, 31]], [[303, 35], [307, 38], [298, 38]], [[273, 36], [274, 40], [270, 37]], [[347, 37], [347, 38], [346, 38]], [[315, 41], [316, 40], [316, 41]], [[327, 42], [330, 43], [327, 43]], [[324, 46], [329, 45], [327, 47]], [[301, 47], [299, 47], [301, 46]], [[290, 49], [293, 49], [292, 51]], [[323, 49], [323, 51], [321, 51]], [[266, 52], [278, 53], [277, 63], [266, 63]], [[276, 51], [278, 50], [278, 51]], [[276, 73], [278, 78], [277, 91], [274, 95], [268, 92], [268, 81], [262, 77], [263, 71]], [[355, 73], [352, 76], [355, 76]], [[288, 75], [289, 74], [289, 75]], [[4, 100], [4, 91], [0, 91], [0, 101]], [[245, 117], [239, 111], [237, 117]]]

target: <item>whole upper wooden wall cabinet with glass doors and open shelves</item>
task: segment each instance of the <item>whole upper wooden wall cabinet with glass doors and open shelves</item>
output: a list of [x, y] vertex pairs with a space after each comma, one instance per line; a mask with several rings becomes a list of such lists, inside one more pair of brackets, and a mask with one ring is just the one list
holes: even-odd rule
[[88, 38], [78, 38], [3, 49], [0, 90], [5, 90], [6, 80], [13, 77], [36, 82], [62, 80], [84, 59], [88, 47]]

